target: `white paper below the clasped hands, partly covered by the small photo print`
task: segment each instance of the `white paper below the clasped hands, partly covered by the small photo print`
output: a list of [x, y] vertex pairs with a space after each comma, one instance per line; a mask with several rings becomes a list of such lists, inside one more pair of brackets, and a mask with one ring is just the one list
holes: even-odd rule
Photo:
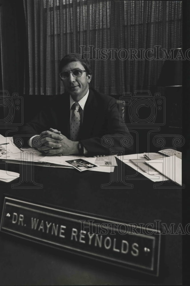
[[63, 166], [71, 166], [69, 163], [65, 162], [68, 160], [77, 160], [77, 159], [83, 159], [83, 160], [88, 160], [91, 163], [95, 163], [96, 157], [85, 157], [85, 156], [76, 156], [76, 155], [69, 155], [69, 156], [45, 156], [39, 161], [41, 162], [48, 162], [48, 163], [53, 163], [53, 164], [58, 164], [58, 165], [63, 165]]

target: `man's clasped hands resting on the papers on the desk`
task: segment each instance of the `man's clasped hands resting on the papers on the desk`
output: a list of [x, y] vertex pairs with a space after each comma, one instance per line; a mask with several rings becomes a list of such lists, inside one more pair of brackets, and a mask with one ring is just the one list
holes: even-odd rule
[[42, 139], [40, 147], [37, 149], [46, 154], [46, 156], [61, 156], [78, 154], [77, 141], [71, 141], [57, 129], [43, 131], [39, 135]]

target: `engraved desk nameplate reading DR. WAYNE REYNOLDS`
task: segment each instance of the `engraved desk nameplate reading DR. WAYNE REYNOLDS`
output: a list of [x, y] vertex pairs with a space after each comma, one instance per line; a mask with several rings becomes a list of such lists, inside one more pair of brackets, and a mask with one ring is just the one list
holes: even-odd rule
[[0, 231], [159, 276], [159, 230], [5, 197]]

